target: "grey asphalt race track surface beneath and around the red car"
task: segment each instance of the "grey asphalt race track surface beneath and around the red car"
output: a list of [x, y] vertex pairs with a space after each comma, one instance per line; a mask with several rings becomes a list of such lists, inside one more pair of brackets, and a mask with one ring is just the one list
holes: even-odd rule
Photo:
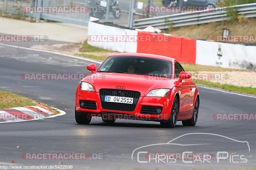
[[[86, 73], [91, 61], [47, 52], [32, 51], [0, 45], [0, 89], [18, 92], [36, 101], [66, 111], [66, 115], [28, 121], [0, 124], [0, 165], [15, 160], [19, 165], [58, 165], [60, 160], [26, 160], [22, 153], [102, 153], [103, 159], [61, 160], [75, 169], [192, 169], [255, 167], [255, 120], [214, 120], [214, 113], [256, 113], [256, 98], [199, 87], [199, 118], [195, 127], [182, 126], [164, 129], [157, 122], [117, 120], [114, 124], [94, 120], [89, 125], [76, 124], [74, 100], [79, 80], [34, 81], [22, 80], [23, 73]], [[96, 64], [97, 67], [99, 63]], [[180, 143], [211, 143], [214, 146], [192, 145], [193, 152], [214, 152], [226, 149], [228, 153], [244, 151], [247, 163], [138, 163], [131, 159], [134, 149], [150, 144], [167, 143], [186, 133], [214, 133], [239, 141], [248, 141], [248, 148], [206, 134], [182, 137]], [[20, 148], [16, 148], [20, 145]], [[217, 147], [218, 146], [218, 147]], [[245, 149], [244, 149], [245, 148]], [[155, 150], [154, 152], [158, 152]], [[167, 152], [167, 151], [166, 151]], [[181, 152], [172, 146], [172, 152]]]

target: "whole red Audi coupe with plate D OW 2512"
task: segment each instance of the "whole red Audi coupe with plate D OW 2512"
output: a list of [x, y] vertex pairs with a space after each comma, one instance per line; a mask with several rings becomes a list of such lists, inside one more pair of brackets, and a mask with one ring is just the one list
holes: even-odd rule
[[115, 53], [84, 77], [76, 89], [75, 118], [89, 124], [92, 117], [114, 123], [117, 118], [160, 122], [173, 128], [177, 121], [195, 126], [199, 93], [180, 63], [170, 57]]

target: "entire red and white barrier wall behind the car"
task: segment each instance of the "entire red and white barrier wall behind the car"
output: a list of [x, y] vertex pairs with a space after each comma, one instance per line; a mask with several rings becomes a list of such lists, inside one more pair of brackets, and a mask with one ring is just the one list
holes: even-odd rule
[[256, 46], [190, 39], [170, 34], [129, 30], [96, 22], [89, 22], [88, 37], [92, 35], [135, 35], [138, 37], [145, 35], [163, 35], [167, 38], [171, 38], [171, 40], [158, 42], [92, 42], [87, 40], [87, 43], [91, 46], [118, 52], [164, 55], [184, 63], [235, 69], [256, 69]]

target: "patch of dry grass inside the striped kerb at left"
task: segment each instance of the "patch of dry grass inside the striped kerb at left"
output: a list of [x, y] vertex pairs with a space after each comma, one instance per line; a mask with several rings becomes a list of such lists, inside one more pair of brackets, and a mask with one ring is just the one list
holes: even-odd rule
[[36, 103], [33, 103], [33, 100], [27, 97], [0, 90], [0, 109], [34, 105]]

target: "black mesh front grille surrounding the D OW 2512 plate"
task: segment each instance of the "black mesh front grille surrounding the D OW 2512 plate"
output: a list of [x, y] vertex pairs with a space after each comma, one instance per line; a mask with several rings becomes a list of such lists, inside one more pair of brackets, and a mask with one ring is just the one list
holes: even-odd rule
[[[132, 97], [133, 104], [105, 102], [104, 101], [105, 96]], [[134, 111], [139, 98], [140, 98], [140, 92], [138, 91], [119, 90], [119, 89], [100, 89], [101, 107], [102, 109], [106, 109], [106, 110]]]

